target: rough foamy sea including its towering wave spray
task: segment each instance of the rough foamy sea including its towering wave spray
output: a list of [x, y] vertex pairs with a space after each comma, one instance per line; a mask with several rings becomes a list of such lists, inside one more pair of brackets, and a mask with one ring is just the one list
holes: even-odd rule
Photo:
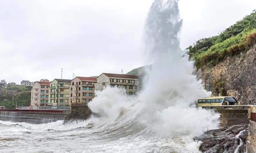
[[155, 0], [145, 19], [145, 69], [136, 96], [124, 89], [96, 91], [88, 120], [45, 124], [0, 120], [1, 153], [199, 153], [193, 141], [218, 128], [219, 114], [196, 108], [211, 92], [197, 78], [193, 60], [180, 49], [177, 0]]

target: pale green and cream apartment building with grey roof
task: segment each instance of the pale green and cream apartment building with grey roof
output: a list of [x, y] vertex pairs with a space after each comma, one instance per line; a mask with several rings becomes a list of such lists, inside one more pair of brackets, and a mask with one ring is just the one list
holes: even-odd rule
[[72, 80], [54, 79], [50, 84], [49, 105], [68, 106], [69, 105], [69, 86]]

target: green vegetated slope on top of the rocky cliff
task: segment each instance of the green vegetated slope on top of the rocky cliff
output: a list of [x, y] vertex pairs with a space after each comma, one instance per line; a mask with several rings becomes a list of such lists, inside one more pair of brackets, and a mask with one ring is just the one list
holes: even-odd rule
[[196, 41], [189, 46], [189, 57], [197, 68], [214, 66], [228, 56], [248, 51], [256, 42], [256, 11], [237, 21], [217, 36]]

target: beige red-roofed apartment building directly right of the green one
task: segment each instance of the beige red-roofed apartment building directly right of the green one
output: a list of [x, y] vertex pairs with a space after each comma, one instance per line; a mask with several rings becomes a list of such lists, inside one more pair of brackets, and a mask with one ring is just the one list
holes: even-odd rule
[[70, 86], [70, 105], [74, 102], [88, 103], [94, 98], [96, 77], [75, 77]]

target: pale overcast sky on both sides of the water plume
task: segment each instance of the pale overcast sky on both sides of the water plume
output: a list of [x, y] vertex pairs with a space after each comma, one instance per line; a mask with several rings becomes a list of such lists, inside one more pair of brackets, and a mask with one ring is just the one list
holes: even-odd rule
[[[0, 79], [52, 80], [124, 73], [143, 65], [152, 0], [0, 0]], [[256, 9], [255, 0], [180, 0], [184, 49]]]

